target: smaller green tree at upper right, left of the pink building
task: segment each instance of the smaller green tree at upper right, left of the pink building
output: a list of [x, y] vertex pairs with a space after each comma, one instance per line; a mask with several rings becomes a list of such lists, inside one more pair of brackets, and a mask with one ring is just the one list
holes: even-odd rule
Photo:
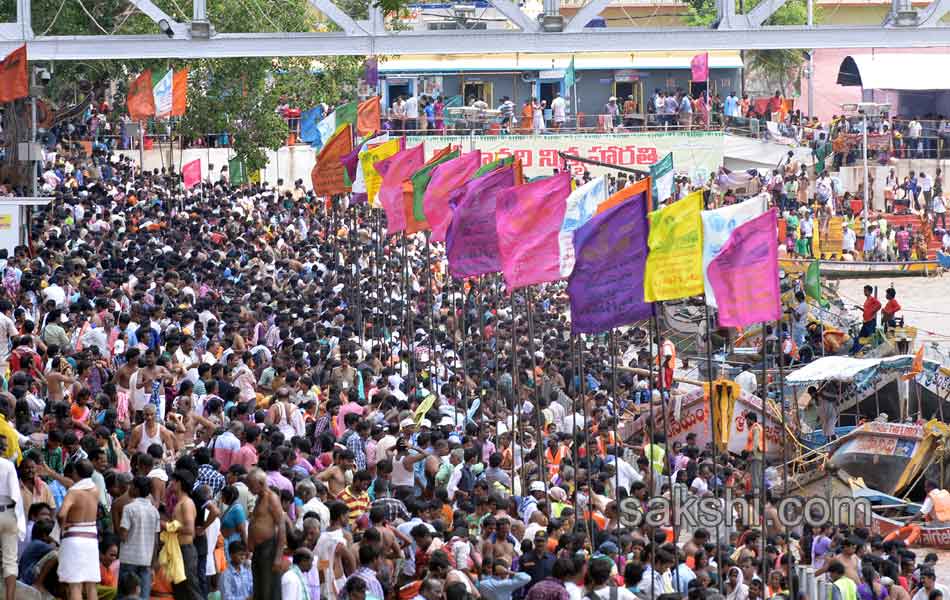
[[[746, 0], [743, 11], [748, 12], [759, 4], [760, 0]], [[716, 22], [715, 0], [687, 0], [689, 12], [686, 22], [697, 27], [711, 27]], [[788, 0], [775, 11], [765, 25], [805, 25], [808, 7], [806, 0]], [[817, 21], [817, 15], [816, 15]], [[800, 79], [801, 69], [807, 58], [801, 49], [748, 50], [745, 53], [747, 74], [760, 78], [767, 89], [781, 89], [784, 95], [790, 92], [790, 84]]]

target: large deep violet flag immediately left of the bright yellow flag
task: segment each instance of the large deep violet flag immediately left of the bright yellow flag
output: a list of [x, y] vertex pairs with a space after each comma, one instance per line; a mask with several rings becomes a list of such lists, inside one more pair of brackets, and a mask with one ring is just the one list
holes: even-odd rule
[[567, 281], [573, 333], [602, 333], [653, 314], [643, 300], [648, 231], [642, 193], [574, 232], [575, 263]]

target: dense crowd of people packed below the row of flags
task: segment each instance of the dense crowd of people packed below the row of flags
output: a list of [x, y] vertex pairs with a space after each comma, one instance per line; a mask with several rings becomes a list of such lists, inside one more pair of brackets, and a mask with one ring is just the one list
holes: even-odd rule
[[[453, 280], [301, 181], [64, 154], [42, 183], [0, 254], [7, 600], [800, 600], [796, 565], [950, 593], [899, 541], [779, 526], [754, 415], [741, 455], [633, 430], [684, 391], [675, 348], [570, 336], [562, 284]], [[631, 516], [678, 491], [736, 522]]]

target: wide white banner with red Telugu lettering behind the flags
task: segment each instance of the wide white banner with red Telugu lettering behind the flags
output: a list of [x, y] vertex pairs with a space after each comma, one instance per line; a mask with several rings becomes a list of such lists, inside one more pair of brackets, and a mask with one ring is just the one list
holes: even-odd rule
[[[725, 136], [718, 131], [677, 133], [616, 133], [571, 135], [476, 135], [409, 137], [412, 145], [425, 140], [426, 159], [437, 148], [452, 144], [462, 152], [481, 150], [482, 164], [506, 157], [520, 158], [526, 177], [551, 175], [562, 169], [558, 152], [597, 160], [610, 165], [640, 169], [646, 172], [651, 165], [668, 153], [673, 153], [677, 173], [688, 173], [691, 178], [707, 179], [722, 166]], [[594, 177], [616, 174], [607, 167], [572, 163], [574, 175], [589, 171]]]

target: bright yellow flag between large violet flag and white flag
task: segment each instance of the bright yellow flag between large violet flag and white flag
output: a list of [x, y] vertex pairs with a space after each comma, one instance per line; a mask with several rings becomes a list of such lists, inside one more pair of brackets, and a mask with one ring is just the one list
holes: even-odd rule
[[648, 302], [675, 300], [703, 293], [703, 192], [650, 213], [644, 275]]

